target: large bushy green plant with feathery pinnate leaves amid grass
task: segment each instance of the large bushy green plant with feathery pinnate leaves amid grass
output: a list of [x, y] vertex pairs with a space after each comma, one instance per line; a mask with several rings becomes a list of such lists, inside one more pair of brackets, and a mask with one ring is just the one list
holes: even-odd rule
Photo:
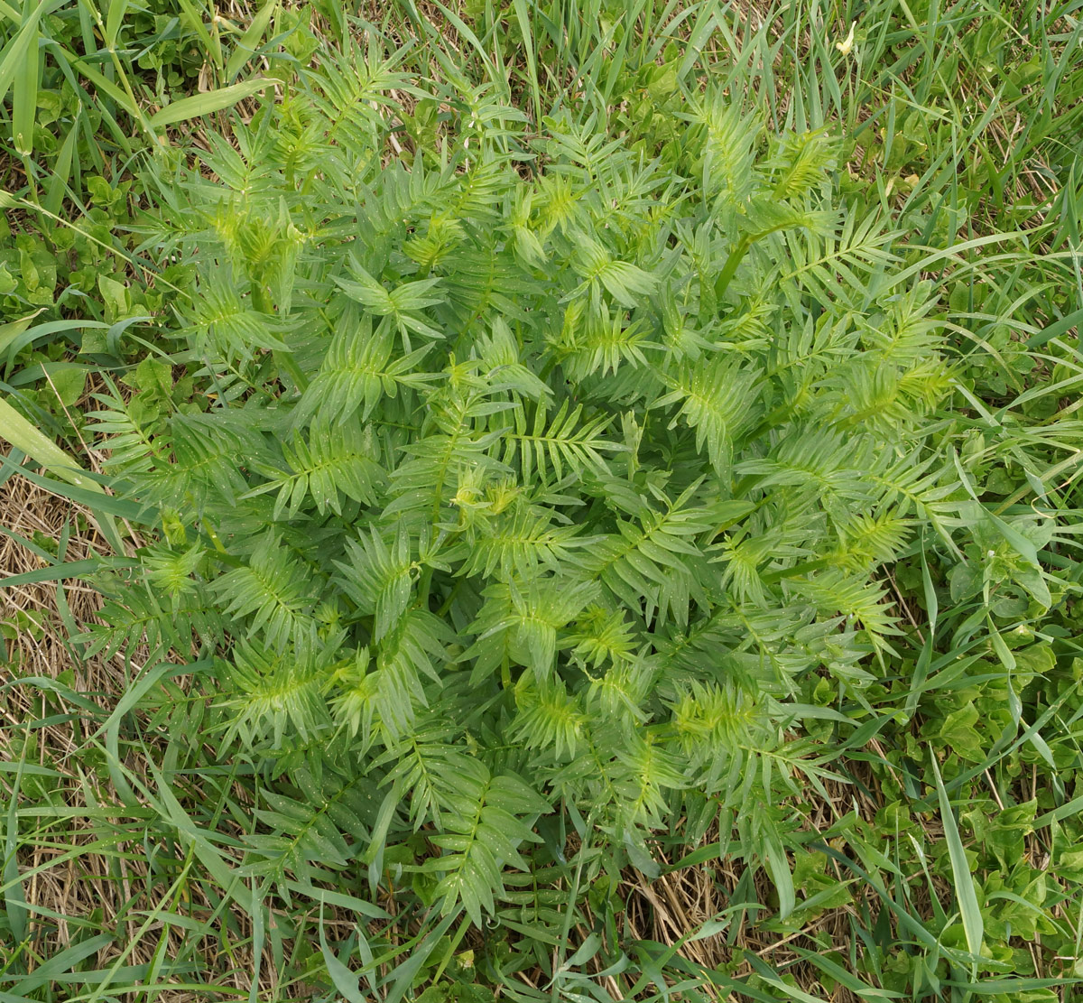
[[198, 649], [201, 730], [295, 792], [248, 837], [272, 885], [361, 868], [522, 923], [570, 833], [615, 885], [683, 818], [785, 916], [824, 772], [787, 728], [832, 716], [824, 679], [864, 701], [884, 565], [953, 546], [928, 285], [832, 204], [832, 140], [710, 89], [664, 161], [479, 102], [407, 169], [393, 66], [305, 83], [191, 153], [145, 234], [207, 392], [174, 406], [152, 359], [102, 398], [165, 536], [89, 650]]

